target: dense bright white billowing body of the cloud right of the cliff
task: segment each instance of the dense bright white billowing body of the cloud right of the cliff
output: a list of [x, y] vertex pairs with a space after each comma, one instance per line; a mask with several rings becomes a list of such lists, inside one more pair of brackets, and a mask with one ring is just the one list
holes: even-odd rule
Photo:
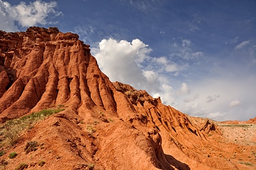
[[159, 90], [157, 73], [140, 68], [141, 63], [149, 58], [150, 51], [148, 45], [138, 39], [117, 42], [111, 38], [102, 40], [98, 49], [92, 49], [102, 72], [111, 81], [120, 81], [135, 88], [156, 92]]

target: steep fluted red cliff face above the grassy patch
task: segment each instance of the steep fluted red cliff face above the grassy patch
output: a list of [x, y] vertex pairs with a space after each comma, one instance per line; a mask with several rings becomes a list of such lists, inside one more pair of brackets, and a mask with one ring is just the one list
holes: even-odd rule
[[78, 35], [56, 27], [0, 35], [1, 122], [60, 104], [116, 112], [108, 78], [102, 77], [90, 46]]

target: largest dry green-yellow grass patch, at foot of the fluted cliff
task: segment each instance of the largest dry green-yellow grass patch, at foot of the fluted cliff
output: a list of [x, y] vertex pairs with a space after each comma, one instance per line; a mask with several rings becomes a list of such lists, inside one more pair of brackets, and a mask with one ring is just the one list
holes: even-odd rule
[[0, 149], [4, 146], [13, 146], [16, 144], [19, 139], [19, 134], [24, 130], [32, 129], [36, 122], [64, 110], [65, 109], [44, 109], [40, 112], [33, 112], [32, 114], [1, 124], [0, 136], [3, 136], [3, 141], [0, 143]]

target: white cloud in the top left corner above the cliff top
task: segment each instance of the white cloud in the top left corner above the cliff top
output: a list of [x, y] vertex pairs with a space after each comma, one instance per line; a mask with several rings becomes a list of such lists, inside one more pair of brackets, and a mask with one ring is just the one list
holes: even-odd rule
[[45, 3], [37, 0], [29, 4], [20, 2], [20, 4], [12, 6], [10, 3], [0, 0], [0, 29], [18, 31], [15, 22], [22, 27], [47, 24], [50, 17], [53, 18], [62, 14], [54, 10], [56, 7], [55, 1]]

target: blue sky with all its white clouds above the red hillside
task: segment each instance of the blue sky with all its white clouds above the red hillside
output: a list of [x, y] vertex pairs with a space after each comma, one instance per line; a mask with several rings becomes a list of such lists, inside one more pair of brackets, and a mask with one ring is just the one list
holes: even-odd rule
[[191, 116], [256, 116], [256, 1], [1, 1], [0, 29], [73, 32], [111, 81]]

